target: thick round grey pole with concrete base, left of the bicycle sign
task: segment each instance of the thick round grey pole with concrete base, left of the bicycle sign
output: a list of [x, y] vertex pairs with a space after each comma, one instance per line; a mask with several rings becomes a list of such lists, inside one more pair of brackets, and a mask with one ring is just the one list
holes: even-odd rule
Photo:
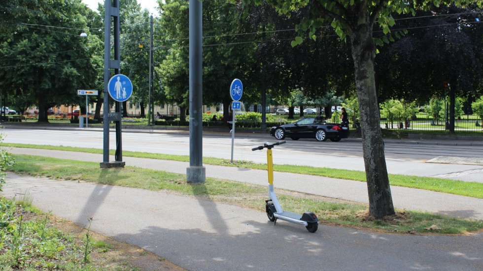
[[193, 183], [206, 180], [206, 169], [203, 166], [202, 11], [202, 1], [189, 1], [190, 166], [186, 169], [186, 181]]

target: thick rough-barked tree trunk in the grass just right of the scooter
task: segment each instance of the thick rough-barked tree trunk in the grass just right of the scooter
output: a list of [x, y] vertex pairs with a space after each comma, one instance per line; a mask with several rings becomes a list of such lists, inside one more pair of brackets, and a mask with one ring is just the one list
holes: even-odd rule
[[366, 18], [365, 24], [359, 23], [357, 29], [350, 32], [350, 39], [361, 115], [362, 150], [369, 194], [369, 214], [380, 218], [394, 214], [394, 206], [380, 130], [380, 112], [374, 77], [376, 46], [372, 37], [373, 25], [369, 22], [369, 14]]

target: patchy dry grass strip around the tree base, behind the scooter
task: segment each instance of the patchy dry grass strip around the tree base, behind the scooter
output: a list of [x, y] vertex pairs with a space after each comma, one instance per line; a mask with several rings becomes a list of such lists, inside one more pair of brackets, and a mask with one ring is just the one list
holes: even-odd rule
[[[89, 181], [99, 184], [137, 187], [154, 191], [203, 197], [265, 211], [267, 188], [207, 178], [202, 184], [189, 184], [183, 174], [127, 166], [100, 169], [97, 162], [83, 162], [34, 155], [12, 155], [16, 163], [12, 170], [33, 176], [46, 176], [57, 180]], [[320, 220], [335, 225], [377, 229], [398, 233], [461, 234], [483, 229], [483, 221], [465, 220], [418, 211], [398, 211], [396, 215], [373, 219], [367, 215], [364, 204], [328, 201], [322, 197], [277, 190], [280, 203], [286, 211], [302, 213], [314, 211]], [[263, 214], [260, 214], [263, 215]]]

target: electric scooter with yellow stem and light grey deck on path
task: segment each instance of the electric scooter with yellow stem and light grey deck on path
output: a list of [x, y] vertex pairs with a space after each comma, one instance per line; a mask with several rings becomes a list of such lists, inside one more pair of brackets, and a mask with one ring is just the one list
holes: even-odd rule
[[252, 151], [267, 149], [267, 169], [268, 169], [268, 196], [269, 199], [265, 200], [265, 210], [270, 221], [276, 224], [276, 220], [284, 220], [299, 225], [304, 225], [311, 233], [317, 231], [319, 220], [315, 213], [306, 211], [302, 215], [294, 212], [283, 211], [282, 207], [278, 203], [278, 199], [274, 190], [274, 162], [272, 158], [272, 148], [276, 145], [281, 145], [286, 141], [280, 141], [274, 144], [265, 143], [263, 146], [258, 146], [251, 149]]

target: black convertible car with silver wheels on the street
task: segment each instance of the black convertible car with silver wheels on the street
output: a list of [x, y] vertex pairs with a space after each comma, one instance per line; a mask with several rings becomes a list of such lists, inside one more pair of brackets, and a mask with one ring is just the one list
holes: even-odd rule
[[339, 142], [341, 139], [349, 136], [349, 126], [347, 124], [327, 123], [325, 120], [307, 118], [291, 124], [272, 127], [270, 135], [278, 140], [289, 137], [293, 140], [315, 138], [317, 141], [330, 139], [331, 141]]

